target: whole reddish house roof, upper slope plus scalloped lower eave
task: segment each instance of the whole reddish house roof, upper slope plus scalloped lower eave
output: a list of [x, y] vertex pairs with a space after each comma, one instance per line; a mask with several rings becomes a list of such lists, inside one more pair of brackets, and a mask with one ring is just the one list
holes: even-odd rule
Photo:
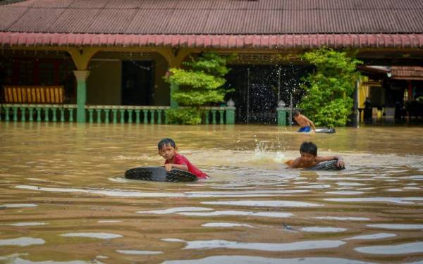
[[0, 45], [423, 47], [422, 0], [27, 0]]

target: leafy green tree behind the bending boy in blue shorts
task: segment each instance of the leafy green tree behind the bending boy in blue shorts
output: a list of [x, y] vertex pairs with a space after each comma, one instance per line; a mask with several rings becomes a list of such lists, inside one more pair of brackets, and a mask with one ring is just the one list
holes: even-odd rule
[[321, 48], [306, 52], [302, 59], [315, 65], [314, 73], [303, 80], [305, 96], [299, 108], [316, 125], [344, 126], [353, 109], [352, 95], [360, 73], [357, 64], [346, 52]]

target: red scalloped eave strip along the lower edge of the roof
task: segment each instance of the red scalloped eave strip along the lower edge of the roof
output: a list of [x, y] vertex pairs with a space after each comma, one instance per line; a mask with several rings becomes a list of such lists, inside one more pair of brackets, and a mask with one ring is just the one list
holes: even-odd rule
[[423, 48], [423, 34], [51, 34], [0, 32], [4, 46], [186, 46], [200, 48]]

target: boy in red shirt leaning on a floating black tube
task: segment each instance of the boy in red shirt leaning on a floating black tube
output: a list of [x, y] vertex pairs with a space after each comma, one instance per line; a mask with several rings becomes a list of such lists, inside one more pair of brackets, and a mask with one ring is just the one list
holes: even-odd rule
[[195, 165], [192, 165], [190, 161], [188, 161], [188, 158], [178, 154], [178, 147], [173, 139], [161, 139], [157, 147], [159, 149], [159, 155], [166, 160], [164, 162], [164, 168], [166, 168], [167, 171], [172, 170], [172, 168], [177, 168], [179, 170], [187, 170], [199, 179], [207, 179], [209, 177], [206, 173], [195, 167]]

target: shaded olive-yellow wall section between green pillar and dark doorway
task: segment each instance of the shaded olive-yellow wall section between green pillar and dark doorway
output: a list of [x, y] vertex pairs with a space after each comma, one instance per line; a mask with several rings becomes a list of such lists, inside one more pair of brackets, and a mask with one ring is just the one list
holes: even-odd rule
[[91, 61], [87, 104], [121, 104], [121, 61]]

